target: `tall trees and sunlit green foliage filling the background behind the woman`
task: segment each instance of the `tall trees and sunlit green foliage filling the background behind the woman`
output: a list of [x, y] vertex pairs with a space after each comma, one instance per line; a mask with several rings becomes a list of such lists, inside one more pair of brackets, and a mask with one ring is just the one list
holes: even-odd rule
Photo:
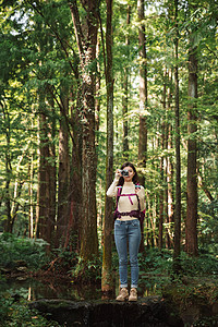
[[[216, 0], [1, 1], [0, 228], [110, 290], [114, 169], [146, 192], [141, 252], [218, 243]], [[73, 259], [72, 259], [73, 257]]]

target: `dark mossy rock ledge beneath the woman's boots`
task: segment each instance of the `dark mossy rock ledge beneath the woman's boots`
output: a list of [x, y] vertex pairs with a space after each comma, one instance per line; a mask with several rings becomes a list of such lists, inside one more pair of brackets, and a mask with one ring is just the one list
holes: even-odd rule
[[158, 296], [138, 302], [38, 300], [29, 304], [64, 326], [172, 327], [183, 326], [182, 319], [167, 311]]

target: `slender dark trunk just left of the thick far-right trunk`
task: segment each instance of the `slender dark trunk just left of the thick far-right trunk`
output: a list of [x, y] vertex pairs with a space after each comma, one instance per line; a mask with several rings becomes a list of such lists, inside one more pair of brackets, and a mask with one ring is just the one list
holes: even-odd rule
[[181, 241], [181, 159], [180, 159], [180, 98], [179, 98], [179, 68], [178, 68], [178, 48], [179, 48], [179, 31], [178, 31], [178, 0], [174, 0], [174, 21], [175, 21], [175, 38], [174, 38], [174, 108], [175, 108], [175, 206], [174, 206], [174, 251], [173, 263], [178, 270], [177, 262], [180, 256]]

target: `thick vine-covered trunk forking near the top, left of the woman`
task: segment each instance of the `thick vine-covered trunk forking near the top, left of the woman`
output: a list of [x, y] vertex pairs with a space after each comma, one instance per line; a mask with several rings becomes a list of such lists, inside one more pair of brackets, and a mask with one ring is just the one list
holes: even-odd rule
[[98, 1], [81, 0], [86, 14], [80, 21], [76, 0], [69, 1], [80, 53], [82, 94], [82, 208], [81, 257], [87, 262], [98, 255], [96, 215], [95, 83]]

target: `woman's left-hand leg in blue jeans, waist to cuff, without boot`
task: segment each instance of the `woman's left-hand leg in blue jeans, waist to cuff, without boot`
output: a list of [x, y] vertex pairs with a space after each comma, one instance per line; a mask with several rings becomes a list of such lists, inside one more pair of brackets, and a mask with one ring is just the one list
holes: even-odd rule
[[114, 240], [119, 256], [120, 287], [128, 288], [128, 233], [125, 221], [116, 220]]

